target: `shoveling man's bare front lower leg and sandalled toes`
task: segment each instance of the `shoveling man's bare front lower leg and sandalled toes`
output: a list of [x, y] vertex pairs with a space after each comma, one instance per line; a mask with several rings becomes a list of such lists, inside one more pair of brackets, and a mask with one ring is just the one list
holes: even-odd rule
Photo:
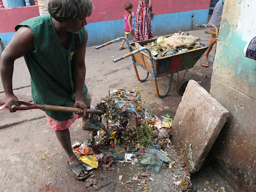
[[[79, 160], [77, 159], [76, 155], [74, 154], [72, 147], [71, 147], [71, 140], [70, 140], [70, 133], [69, 129], [63, 130], [63, 131], [55, 131], [55, 134], [60, 141], [61, 146], [66, 151], [68, 158], [69, 158], [69, 164], [76, 164], [79, 163]], [[73, 172], [76, 174], [76, 171], [73, 170]], [[83, 177], [87, 175], [87, 171], [82, 171], [79, 174], [79, 177]]]

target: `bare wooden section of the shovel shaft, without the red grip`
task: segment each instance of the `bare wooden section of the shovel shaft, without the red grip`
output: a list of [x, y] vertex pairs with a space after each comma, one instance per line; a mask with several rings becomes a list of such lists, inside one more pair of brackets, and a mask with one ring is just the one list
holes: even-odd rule
[[[49, 111], [62, 111], [62, 112], [79, 112], [83, 111], [82, 108], [74, 108], [74, 107], [63, 107], [63, 106], [55, 106], [55, 105], [44, 105], [44, 110]], [[104, 111], [98, 109], [87, 109], [87, 113], [103, 115]]]

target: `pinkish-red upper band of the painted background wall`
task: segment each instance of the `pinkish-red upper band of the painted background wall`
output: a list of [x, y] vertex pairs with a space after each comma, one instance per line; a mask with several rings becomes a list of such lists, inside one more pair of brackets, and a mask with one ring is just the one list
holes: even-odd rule
[[[133, 12], [136, 13], [138, 0], [129, 1], [134, 6]], [[87, 19], [89, 23], [123, 19], [125, 13], [123, 0], [93, 0], [92, 4], [94, 9]], [[157, 14], [208, 9], [209, 6], [209, 0], [153, 0], [153, 12]], [[15, 32], [14, 27], [17, 24], [36, 16], [39, 16], [38, 6], [0, 9], [0, 33]]]

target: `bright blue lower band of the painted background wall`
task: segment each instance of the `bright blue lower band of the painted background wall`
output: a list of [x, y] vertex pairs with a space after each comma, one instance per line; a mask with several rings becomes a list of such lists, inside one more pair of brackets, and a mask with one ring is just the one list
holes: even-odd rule
[[[152, 21], [154, 36], [167, 35], [174, 32], [189, 31], [196, 28], [196, 24], [207, 23], [209, 9], [168, 13], [155, 16]], [[135, 19], [134, 19], [135, 24]], [[101, 21], [88, 23], [86, 26], [89, 34], [87, 46], [99, 45], [124, 36], [124, 20]], [[0, 33], [4, 45], [9, 44], [14, 32]], [[129, 39], [132, 36], [130, 35]], [[0, 50], [1, 52], [1, 50]]]

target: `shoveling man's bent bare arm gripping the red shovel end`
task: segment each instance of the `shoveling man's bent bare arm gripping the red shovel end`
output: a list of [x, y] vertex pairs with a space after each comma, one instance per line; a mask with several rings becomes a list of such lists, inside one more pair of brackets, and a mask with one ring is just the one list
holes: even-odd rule
[[0, 74], [6, 95], [5, 107], [11, 112], [11, 106], [19, 106], [17, 97], [12, 91], [12, 75], [14, 61], [34, 48], [34, 35], [29, 27], [20, 27], [12, 37], [11, 42], [0, 56]]

